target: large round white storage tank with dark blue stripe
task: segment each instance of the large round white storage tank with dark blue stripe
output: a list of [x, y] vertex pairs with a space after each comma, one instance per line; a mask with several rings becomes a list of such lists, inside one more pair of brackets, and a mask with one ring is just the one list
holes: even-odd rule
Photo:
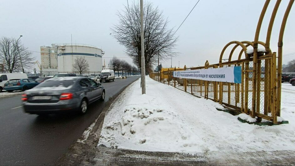
[[87, 74], [102, 71], [102, 55], [104, 52], [96, 46], [86, 44], [56, 44], [58, 45], [58, 71], [62, 73], [74, 72], [73, 64], [77, 56], [85, 57], [89, 64]]

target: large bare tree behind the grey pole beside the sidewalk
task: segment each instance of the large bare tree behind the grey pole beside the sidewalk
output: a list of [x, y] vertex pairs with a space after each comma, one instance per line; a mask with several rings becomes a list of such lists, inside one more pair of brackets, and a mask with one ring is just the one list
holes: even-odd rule
[[[167, 60], [176, 56], [174, 52], [177, 37], [174, 37], [173, 29], [168, 28], [168, 21], [163, 17], [158, 7], [146, 2], [144, 4], [144, 45], [145, 66], [157, 64], [160, 60]], [[125, 46], [126, 54], [130, 56], [133, 63], [140, 68], [141, 64], [141, 42], [140, 42], [140, 7], [133, 3], [125, 10], [118, 12], [119, 23], [111, 28], [114, 38]]]

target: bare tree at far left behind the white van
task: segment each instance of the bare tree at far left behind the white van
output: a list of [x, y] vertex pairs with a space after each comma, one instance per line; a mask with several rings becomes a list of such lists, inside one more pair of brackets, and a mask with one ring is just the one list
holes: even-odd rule
[[[28, 51], [20, 41], [15, 38], [2, 37], [0, 40], [0, 61], [3, 62], [5, 71], [10, 73], [31, 69], [35, 58], [32, 57], [32, 52]], [[22, 64], [21, 64], [22, 62]]]

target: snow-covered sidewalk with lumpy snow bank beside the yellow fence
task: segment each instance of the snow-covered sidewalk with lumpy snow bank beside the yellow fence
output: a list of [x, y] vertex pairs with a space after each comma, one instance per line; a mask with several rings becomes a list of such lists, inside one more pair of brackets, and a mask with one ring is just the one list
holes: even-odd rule
[[141, 95], [140, 80], [122, 92], [123, 97], [105, 115], [98, 145], [192, 154], [214, 152], [223, 156], [295, 150], [294, 94], [282, 91], [281, 116], [289, 124], [258, 126], [240, 122], [238, 115], [216, 110], [223, 108], [216, 102], [149, 77], [146, 92]]

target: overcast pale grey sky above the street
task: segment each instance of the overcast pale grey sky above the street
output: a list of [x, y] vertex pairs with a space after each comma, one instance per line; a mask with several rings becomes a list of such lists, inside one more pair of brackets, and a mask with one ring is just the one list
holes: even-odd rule
[[[145, 1], [145, 0], [144, 0]], [[134, 1], [129, 0], [129, 3]], [[138, 2], [137, 0], [135, 1]], [[169, 26], [177, 29], [197, 0], [150, 0], [163, 10]], [[204, 66], [218, 63], [222, 48], [231, 41], [253, 41], [264, 0], [200, 0], [190, 16], [176, 32], [179, 41], [172, 66]], [[278, 34], [287, 7], [283, 0], [274, 23], [271, 49], [277, 51]], [[265, 42], [267, 26], [275, 1], [271, 1], [259, 40]], [[84, 43], [98, 46], [105, 51], [104, 57], [126, 57], [124, 47], [109, 35], [110, 27], [118, 22], [117, 11], [127, 5], [127, 0], [1, 0], [0, 37], [23, 35], [22, 42], [40, 61], [40, 46], [52, 43]], [[284, 34], [283, 55], [295, 52], [295, 9], [291, 9]], [[231, 48], [225, 52], [228, 57]], [[238, 54], [240, 50], [236, 51]], [[237, 56], [233, 56], [233, 59]], [[105, 58], [106, 64], [110, 58]], [[132, 62], [130, 58], [124, 58]], [[283, 64], [295, 59], [295, 55], [283, 57]], [[169, 67], [171, 61], [162, 61]]]

